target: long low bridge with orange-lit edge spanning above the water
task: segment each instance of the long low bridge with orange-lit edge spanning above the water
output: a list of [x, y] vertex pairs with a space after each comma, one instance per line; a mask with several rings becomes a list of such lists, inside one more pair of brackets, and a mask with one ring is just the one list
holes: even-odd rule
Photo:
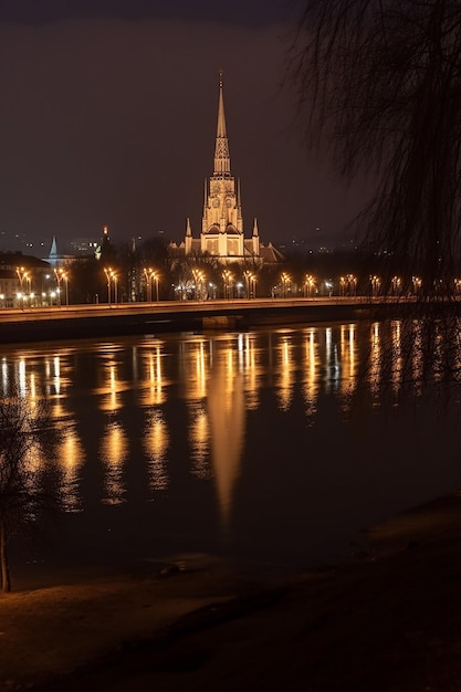
[[0, 344], [264, 325], [356, 321], [398, 315], [407, 301], [364, 297], [239, 298], [62, 305], [0, 311]]

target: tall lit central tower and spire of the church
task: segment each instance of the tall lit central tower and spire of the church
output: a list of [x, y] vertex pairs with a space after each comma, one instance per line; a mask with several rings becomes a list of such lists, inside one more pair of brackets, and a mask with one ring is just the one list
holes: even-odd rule
[[231, 175], [222, 70], [219, 72], [214, 170], [205, 180], [200, 250], [221, 260], [242, 259], [245, 253], [240, 182]]

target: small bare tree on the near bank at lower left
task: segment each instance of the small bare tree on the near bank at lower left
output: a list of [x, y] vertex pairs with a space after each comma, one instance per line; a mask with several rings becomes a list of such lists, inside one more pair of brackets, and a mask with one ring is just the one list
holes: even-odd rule
[[0, 569], [11, 590], [8, 545], [13, 536], [43, 531], [61, 508], [55, 433], [45, 400], [14, 394], [0, 400]]

